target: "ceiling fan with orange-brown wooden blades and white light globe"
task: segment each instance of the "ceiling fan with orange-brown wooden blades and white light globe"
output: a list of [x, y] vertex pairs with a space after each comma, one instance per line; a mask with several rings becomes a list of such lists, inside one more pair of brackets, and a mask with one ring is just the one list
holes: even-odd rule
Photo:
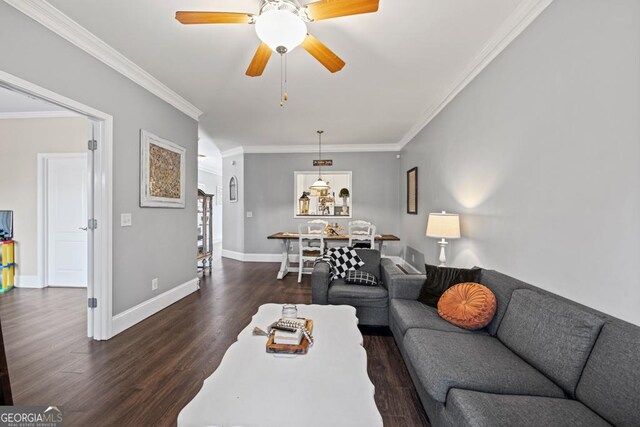
[[345, 62], [317, 38], [307, 33], [307, 22], [378, 11], [379, 0], [320, 0], [300, 5], [298, 0], [263, 0], [258, 15], [230, 12], [176, 12], [182, 24], [255, 24], [261, 43], [246, 75], [261, 76], [272, 52], [284, 55], [302, 46], [329, 71]]

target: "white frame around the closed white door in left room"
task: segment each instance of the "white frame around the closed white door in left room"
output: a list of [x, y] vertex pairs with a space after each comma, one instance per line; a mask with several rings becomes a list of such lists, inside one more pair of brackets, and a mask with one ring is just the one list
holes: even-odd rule
[[[88, 159], [87, 152], [83, 153], [38, 153], [38, 284], [41, 288], [45, 288], [49, 283], [49, 223], [48, 213], [49, 205], [47, 203], [48, 194], [48, 161], [52, 158], [82, 158], [85, 162]], [[87, 185], [89, 183], [87, 182]], [[87, 198], [87, 216], [89, 216], [89, 203], [91, 200]], [[87, 239], [87, 244], [91, 244]], [[87, 266], [88, 267], [88, 266]], [[87, 268], [87, 274], [89, 270]], [[81, 287], [81, 286], [72, 286]], [[87, 286], [88, 287], [88, 286]]]

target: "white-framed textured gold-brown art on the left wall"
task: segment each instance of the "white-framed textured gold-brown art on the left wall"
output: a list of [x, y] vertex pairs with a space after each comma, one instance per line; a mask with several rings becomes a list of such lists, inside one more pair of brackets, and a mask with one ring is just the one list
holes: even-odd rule
[[185, 207], [186, 152], [178, 144], [140, 131], [141, 207]]

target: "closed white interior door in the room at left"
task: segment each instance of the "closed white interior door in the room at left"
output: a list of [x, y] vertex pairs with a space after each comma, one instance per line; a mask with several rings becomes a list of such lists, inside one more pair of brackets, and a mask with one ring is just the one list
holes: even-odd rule
[[87, 286], [87, 162], [86, 153], [47, 159], [48, 286]]

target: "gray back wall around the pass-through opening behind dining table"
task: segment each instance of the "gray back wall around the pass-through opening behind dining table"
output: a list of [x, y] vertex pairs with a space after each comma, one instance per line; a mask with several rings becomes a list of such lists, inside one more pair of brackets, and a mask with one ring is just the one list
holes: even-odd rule
[[[327, 171], [352, 171], [353, 219], [366, 219], [376, 224], [378, 232], [398, 234], [398, 167], [397, 153], [327, 153], [333, 166]], [[323, 153], [324, 155], [324, 153]], [[245, 154], [246, 181], [244, 210], [253, 213], [245, 218], [244, 252], [279, 253], [280, 243], [267, 240], [278, 231], [296, 231], [304, 219], [294, 219], [297, 197], [294, 197], [294, 171], [313, 171], [314, 154]], [[225, 216], [225, 222], [226, 222]], [[331, 219], [345, 226], [349, 219]], [[230, 239], [225, 234], [224, 244]], [[400, 252], [400, 243], [385, 245], [387, 255]]]

